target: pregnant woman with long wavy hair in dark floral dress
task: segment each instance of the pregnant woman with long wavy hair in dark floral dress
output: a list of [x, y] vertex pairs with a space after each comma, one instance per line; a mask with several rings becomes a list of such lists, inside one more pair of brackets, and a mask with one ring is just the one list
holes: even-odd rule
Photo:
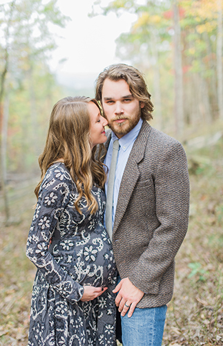
[[26, 251], [37, 266], [29, 346], [116, 345], [106, 174], [94, 157], [106, 125], [94, 99], [64, 98], [52, 109]]

